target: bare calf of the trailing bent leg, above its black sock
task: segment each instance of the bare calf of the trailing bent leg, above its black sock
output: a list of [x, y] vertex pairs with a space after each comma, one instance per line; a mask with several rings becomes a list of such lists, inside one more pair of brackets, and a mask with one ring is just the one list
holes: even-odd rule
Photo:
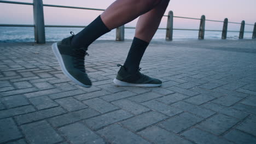
[[111, 30], [124, 25], [156, 7], [162, 0], [117, 0], [102, 14], [101, 19]]

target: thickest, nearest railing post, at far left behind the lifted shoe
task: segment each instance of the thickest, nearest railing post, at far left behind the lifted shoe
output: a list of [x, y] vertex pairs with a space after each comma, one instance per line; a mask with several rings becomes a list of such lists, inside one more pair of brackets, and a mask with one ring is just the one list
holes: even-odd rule
[[37, 44], [45, 44], [44, 9], [42, 0], [33, 0], [34, 40]]

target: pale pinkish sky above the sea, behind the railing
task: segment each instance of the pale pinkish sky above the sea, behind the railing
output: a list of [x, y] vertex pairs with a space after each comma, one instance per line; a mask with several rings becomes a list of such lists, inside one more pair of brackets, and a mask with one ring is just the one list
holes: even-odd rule
[[[32, 0], [13, 0], [30, 2]], [[114, 0], [43, 0], [44, 4], [69, 5], [75, 7], [106, 9]], [[254, 24], [256, 22], [256, 0], [171, 0], [165, 15], [172, 10], [174, 16], [200, 18], [205, 15], [208, 20]], [[88, 25], [102, 11], [44, 7], [45, 25]], [[160, 27], [166, 27], [164, 17]], [[32, 5], [0, 3], [0, 23], [33, 24]], [[198, 29], [199, 20], [174, 18], [174, 28]], [[135, 26], [136, 20], [126, 26]], [[206, 29], [222, 30], [223, 23], [206, 21]], [[229, 30], [239, 31], [240, 25], [230, 24]], [[253, 31], [253, 26], [246, 26], [246, 31]]]

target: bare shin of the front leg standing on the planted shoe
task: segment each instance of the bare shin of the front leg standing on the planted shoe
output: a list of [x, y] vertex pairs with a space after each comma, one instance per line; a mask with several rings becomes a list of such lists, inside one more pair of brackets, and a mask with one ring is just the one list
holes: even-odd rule
[[152, 40], [155, 32], [157, 31], [162, 16], [168, 6], [169, 0], [162, 0], [154, 9], [148, 11], [148, 13], [139, 16], [139, 20], [136, 25], [135, 37], [147, 41]]

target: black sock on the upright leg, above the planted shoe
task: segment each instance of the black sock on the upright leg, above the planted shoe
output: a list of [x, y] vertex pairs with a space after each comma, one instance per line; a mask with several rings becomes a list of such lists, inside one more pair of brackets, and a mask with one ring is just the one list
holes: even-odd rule
[[130, 72], [135, 73], [139, 69], [139, 63], [141, 63], [142, 56], [148, 47], [148, 42], [133, 38], [130, 51], [124, 63], [124, 67]]

